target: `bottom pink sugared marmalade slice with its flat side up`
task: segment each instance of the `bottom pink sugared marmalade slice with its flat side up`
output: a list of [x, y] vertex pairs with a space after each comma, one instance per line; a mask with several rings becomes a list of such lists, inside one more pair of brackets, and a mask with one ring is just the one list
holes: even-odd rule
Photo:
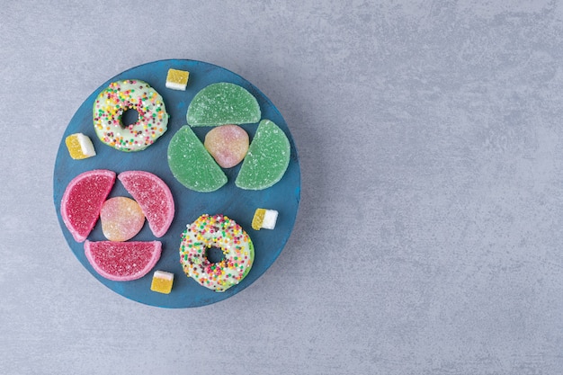
[[145, 276], [162, 253], [159, 241], [86, 241], [84, 250], [95, 272], [112, 281], [131, 281]]

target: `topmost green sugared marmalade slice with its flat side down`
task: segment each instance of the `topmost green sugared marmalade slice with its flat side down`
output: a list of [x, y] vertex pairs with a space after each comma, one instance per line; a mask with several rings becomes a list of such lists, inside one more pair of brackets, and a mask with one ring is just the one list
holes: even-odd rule
[[219, 82], [203, 88], [188, 107], [192, 126], [247, 124], [260, 121], [260, 105], [245, 88]]

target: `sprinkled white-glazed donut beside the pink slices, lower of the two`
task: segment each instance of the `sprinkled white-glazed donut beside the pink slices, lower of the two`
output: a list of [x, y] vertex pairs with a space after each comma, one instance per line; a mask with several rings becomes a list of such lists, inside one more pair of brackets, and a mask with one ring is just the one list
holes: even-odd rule
[[[207, 250], [217, 247], [223, 259], [211, 263]], [[225, 291], [242, 281], [250, 271], [255, 249], [250, 237], [235, 220], [225, 215], [201, 215], [182, 234], [180, 263], [183, 272], [215, 291]]]

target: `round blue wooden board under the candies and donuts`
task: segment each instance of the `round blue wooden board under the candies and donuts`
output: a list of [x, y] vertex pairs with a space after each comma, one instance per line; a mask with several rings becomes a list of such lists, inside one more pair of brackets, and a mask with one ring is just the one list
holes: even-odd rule
[[[174, 68], [190, 72], [186, 91], [176, 91], [165, 87], [168, 69]], [[121, 152], [112, 147], [104, 145], [96, 136], [92, 110], [94, 100], [100, 92], [113, 81], [122, 79], [140, 79], [146, 81], [162, 95], [166, 111], [170, 115], [168, 129], [156, 142], [139, 152]], [[260, 105], [262, 120], [267, 119], [275, 122], [290, 140], [291, 156], [290, 165], [279, 183], [262, 191], [246, 191], [237, 188], [237, 178], [240, 164], [223, 169], [228, 176], [228, 183], [216, 192], [193, 192], [185, 188], [175, 180], [167, 163], [167, 147], [175, 132], [186, 125], [186, 112], [192, 98], [202, 88], [217, 82], [229, 82], [240, 85], [253, 94]], [[255, 134], [258, 124], [242, 125], [251, 139]], [[205, 134], [211, 129], [209, 127], [192, 128], [196, 135], [203, 140]], [[92, 139], [96, 156], [74, 160], [70, 157], [65, 144], [65, 138], [74, 133], [83, 133]], [[77, 243], [65, 226], [61, 213], [60, 201], [67, 184], [86, 171], [94, 169], [109, 169], [119, 174], [123, 171], [143, 170], [159, 176], [168, 184], [174, 196], [175, 214], [174, 221], [164, 237], [153, 236], [147, 222], [143, 229], [131, 241], [153, 241], [162, 242], [162, 255], [155, 268], [146, 276], [136, 281], [110, 281], [103, 278], [94, 271], [85, 257], [84, 243]], [[121, 294], [128, 299], [162, 308], [193, 308], [209, 305], [222, 299], [228, 299], [237, 292], [244, 290], [255, 282], [280, 255], [290, 237], [299, 208], [300, 195], [300, 169], [297, 149], [293, 142], [287, 124], [281, 117], [280, 112], [273, 103], [241, 76], [228, 71], [223, 67], [185, 59], [169, 59], [148, 63], [139, 67], [133, 67], [105, 82], [94, 91], [76, 112], [67, 126], [63, 138], [58, 147], [57, 160], [53, 177], [54, 201], [57, 209], [58, 221], [63, 234], [67, 239], [73, 253], [80, 263], [103, 285]], [[127, 196], [119, 180], [116, 180], [110, 197]], [[273, 230], [254, 230], [251, 222], [257, 208], [272, 209], [279, 212], [276, 227]], [[196, 281], [187, 277], [180, 264], [179, 247], [183, 230], [186, 225], [192, 223], [201, 214], [224, 214], [234, 219], [248, 233], [255, 246], [255, 262], [246, 278], [239, 284], [224, 292], [215, 292], [202, 287]], [[103, 241], [102, 227], [98, 220], [94, 230], [88, 236], [90, 241]], [[170, 294], [162, 294], [150, 290], [153, 272], [162, 270], [174, 273], [174, 286]]]

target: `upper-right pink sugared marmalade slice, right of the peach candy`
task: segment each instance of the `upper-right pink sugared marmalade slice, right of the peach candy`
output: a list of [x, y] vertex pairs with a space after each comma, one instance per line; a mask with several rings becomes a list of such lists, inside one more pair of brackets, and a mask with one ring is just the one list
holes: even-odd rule
[[168, 185], [144, 171], [122, 172], [118, 178], [139, 203], [155, 237], [163, 237], [174, 219], [174, 198]]

